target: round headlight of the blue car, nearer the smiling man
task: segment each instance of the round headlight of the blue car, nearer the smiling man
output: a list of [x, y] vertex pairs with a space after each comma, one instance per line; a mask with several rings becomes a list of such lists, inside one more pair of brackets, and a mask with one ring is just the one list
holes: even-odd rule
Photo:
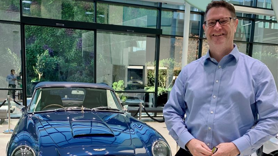
[[153, 142], [151, 152], [153, 153], [153, 156], [172, 156], [170, 147], [162, 140]]

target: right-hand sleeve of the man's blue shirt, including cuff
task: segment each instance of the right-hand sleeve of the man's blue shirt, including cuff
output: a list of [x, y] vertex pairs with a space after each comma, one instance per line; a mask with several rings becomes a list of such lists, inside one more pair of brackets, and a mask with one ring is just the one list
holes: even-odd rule
[[260, 70], [255, 79], [255, 102], [259, 116], [257, 124], [233, 141], [240, 156], [256, 152], [264, 142], [278, 133], [278, 93], [275, 81], [266, 65], [261, 66]]

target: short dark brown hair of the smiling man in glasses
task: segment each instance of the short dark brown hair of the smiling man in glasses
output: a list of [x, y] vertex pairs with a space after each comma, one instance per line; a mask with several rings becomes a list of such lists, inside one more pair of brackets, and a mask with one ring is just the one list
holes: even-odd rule
[[211, 8], [220, 8], [220, 7], [228, 9], [230, 11], [232, 17], [235, 17], [235, 18], [237, 17], [235, 14], [234, 6], [226, 1], [221, 0], [221, 1], [211, 1], [211, 3], [209, 3], [206, 6], [206, 12], [205, 12], [204, 18], [206, 19], [206, 14], [208, 13], [208, 11]]

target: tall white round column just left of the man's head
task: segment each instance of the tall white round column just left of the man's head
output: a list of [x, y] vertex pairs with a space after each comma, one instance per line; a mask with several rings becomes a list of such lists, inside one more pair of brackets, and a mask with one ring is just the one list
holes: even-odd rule
[[182, 43], [182, 68], [187, 64], [188, 40], [189, 40], [189, 21], [190, 21], [190, 4], [185, 2], [183, 43]]

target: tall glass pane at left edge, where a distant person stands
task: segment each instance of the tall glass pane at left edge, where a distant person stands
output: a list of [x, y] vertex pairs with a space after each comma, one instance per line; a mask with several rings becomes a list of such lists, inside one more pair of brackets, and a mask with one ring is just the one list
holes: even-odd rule
[[0, 23], [0, 34], [0, 88], [22, 88], [20, 25]]

